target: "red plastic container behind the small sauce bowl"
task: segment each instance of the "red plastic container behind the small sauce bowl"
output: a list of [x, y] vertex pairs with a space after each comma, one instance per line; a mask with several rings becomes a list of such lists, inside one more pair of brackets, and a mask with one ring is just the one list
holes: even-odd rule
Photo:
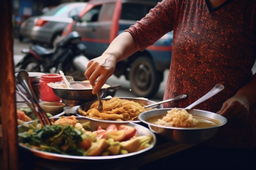
[[50, 88], [47, 84], [50, 82], [63, 82], [60, 74], [45, 74], [40, 79], [40, 98], [47, 102], [59, 102], [61, 99], [57, 97], [53, 88]]

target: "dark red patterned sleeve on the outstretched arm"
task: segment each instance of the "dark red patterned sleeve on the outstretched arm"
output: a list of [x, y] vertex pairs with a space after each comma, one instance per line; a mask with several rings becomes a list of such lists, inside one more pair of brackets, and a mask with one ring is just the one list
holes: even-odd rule
[[158, 2], [144, 18], [125, 31], [130, 32], [133, 39], [139, 44], [140, 50], [143, 51], [164, 34], [173, 30], [176, 8], [175, 0]]

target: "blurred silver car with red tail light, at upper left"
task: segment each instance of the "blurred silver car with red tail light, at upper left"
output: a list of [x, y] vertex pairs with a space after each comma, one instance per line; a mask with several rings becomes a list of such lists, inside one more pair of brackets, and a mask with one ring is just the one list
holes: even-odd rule
[[26, 37], [34, 43], [46, 43], [53, 47], [66, 25], [73, 21], [72, 16], [78, 15], [86, 4], [86, 2], [63, 3], [41, 16], [29, 17], [20, 26], [19, 39], [23, 40]]

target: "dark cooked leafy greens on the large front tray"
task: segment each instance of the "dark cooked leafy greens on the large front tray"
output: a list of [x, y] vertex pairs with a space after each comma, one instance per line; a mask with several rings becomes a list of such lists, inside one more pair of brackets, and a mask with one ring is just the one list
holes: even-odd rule
[[30, 129], [19, 133], [21, 142], [31, 148], [58, 154], [85, 155], [77, 143], [82, 142], [83, 132], [72, 126], [46, 125], [41, 129]]

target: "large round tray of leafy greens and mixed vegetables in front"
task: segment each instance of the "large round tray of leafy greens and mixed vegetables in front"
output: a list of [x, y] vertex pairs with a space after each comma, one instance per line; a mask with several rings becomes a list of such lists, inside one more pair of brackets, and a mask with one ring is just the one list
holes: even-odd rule
[[74, 115], [54, 118], [41, 127], [30, 121], [18, 127], [19, 147], [47, 160], [112, 160], [150, 150], [157, 139], [139, 124], [108, 124]]

